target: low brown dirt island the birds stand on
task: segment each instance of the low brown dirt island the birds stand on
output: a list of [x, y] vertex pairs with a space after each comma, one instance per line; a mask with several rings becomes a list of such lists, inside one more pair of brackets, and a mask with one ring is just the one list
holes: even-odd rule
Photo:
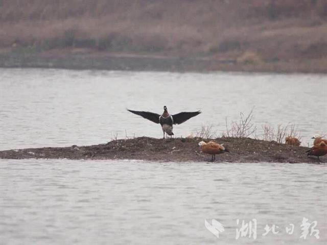
[[[208, 162], [210, 155], [203, 154], [198, 146], [201, 138], [155, 139], [139, 137], [113, 140], [106, 144], [63, 148], [31, 148], [0, 151], [3, 159], [137, 159], [148, 161]], [[205, 140], [207, 141], [207, 140]], [[309, 148], [290, 146], [250, 138], [217, 138], [230, 153], [216, 155], [216, 162], [289, 162], [319, 163], [307, 156]], [[327, 162], [326, 157], [321, 162]]]

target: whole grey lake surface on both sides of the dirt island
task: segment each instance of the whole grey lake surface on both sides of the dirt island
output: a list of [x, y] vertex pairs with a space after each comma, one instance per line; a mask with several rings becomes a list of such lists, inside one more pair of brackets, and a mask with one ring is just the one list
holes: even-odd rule
[[[126, 108], [203, 113], [174, 128], [327, 132], [327, 76], [0, 68], [0, 150], [162, 137]], [[1, 244], [326, 244], [327, 165], [0, 159]], [[303, 218], [317, 222], [302, 235]], [[217, 220], [219, 238], [205, 227]], [[239, 224], [237, 224], [239, 219]], [[242, 221], [254, 227], [236, 239]], [[286, 228], [294, 225], [292, 234]], [[275, 232], [265, 234], [265, 226]], [[278, 226], [278, 227], [277, 227]], [[221, 227], [220, 227], [221, 228]], [[315, 232], [319, 230], [319, 239]]]

